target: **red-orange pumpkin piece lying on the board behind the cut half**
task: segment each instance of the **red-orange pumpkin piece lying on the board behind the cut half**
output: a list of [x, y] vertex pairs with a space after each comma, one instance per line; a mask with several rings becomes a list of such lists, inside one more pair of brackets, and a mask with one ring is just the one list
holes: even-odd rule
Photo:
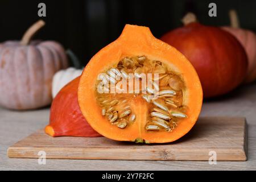
[[100, 137], [82, 116], [78, 101], [77, 88], [80, 77], [64, 86], [54, 98], [51, 106], [49, 125], [46, 133], [52, 137]]

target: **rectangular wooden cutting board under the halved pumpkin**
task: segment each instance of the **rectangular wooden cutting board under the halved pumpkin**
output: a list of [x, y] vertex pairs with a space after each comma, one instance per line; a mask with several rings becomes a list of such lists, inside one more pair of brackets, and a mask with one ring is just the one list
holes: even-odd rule
[[245, 118], [200, 118], [183, 138], [167, 144], [135, 144], [104, 137], [49, 137], [36, 131], [8, 148], [9, 158], [114, 159], [114, 160], [246, 160]]

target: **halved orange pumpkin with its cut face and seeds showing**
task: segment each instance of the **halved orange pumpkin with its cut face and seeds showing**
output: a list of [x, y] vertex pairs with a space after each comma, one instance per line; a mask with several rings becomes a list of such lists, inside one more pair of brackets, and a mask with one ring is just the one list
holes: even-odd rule
[[86, 65], [78, 101], [90, 126], [104, 137], [166, 143], [195, 125], [203, 92], [184, 55], [148, 27], [127, 24]]

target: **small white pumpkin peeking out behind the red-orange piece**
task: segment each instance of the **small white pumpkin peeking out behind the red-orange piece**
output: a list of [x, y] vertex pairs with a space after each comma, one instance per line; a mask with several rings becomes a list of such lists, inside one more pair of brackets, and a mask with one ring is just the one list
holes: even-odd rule
[[71, 80], [75, 79], [76, 77], [82, 74], [82, 69], [76, 69], [70, 67], [68, 69], [63, 69], [53, 76], [52, 80], [52, 98], [54, 98], [57, 93], [70, 82]]

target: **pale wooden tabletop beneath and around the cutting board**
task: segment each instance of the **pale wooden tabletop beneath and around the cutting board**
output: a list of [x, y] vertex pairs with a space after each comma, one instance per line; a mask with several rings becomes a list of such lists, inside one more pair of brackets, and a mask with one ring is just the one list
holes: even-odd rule
[[7, 148], [48, 123], [49, 109], [10, 111], [0, 109], [0, 170], [256, 170], [256, 84], [243, 86], [225, 98], [204, 102], [201, 116], [246, 117], [248, 155], [246, 162], [177, 162], [129, 160], [9, 159]]

